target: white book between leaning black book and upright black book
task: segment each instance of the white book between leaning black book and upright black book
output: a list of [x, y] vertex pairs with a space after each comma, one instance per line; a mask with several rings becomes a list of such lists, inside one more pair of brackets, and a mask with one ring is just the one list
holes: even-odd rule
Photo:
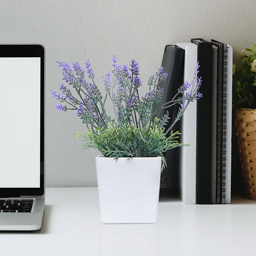
[[[198, 62], [198, 47], [192, 42], [178, 42], [177, 46], [185, 50], [184, 81], [189, 83], [194, 77], [194, 68]], [[182, 147], [180, 188], [185, 204], [196, 203], [196, 102], [191, 102], [182, 118]]]

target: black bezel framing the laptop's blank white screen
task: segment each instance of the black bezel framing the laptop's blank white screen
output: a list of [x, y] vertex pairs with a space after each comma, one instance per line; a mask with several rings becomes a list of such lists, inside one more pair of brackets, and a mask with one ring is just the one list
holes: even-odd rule
[[40, 57], [40, 187], [0, 188], [0, 198], [44, 195], [44, 47], [40, 44], [0, 45], [1, 57]]

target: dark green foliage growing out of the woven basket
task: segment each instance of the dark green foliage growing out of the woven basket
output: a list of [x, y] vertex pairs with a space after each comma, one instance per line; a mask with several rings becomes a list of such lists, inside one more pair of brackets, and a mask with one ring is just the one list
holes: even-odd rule
[[256, 44], [246, 48], [233, 75], [233, 107], [256, 108]]

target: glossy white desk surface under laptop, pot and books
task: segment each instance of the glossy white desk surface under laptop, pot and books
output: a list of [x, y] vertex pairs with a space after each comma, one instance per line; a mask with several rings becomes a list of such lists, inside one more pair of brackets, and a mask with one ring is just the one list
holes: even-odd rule
[[97, 188], [47, 188], [42, 229], [0, 232], [1, 255], [250, 255], [256, 202], [184, 205], [161, 199], [156, 224], [102, 224]]

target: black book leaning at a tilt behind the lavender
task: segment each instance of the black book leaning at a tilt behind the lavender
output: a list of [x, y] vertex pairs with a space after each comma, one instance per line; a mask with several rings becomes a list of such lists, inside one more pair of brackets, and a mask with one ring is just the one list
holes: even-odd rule
[[[162, 66], [164, 67], [164, 72], [168, 73], [167, 78], [162, 81], [159, 85], [164, 89], [162, 95], [162, 101], [159, 106], [166, 102], [172, 100], [172, 98], [177, 94], [178, 87], [183, 84], [183, 73], [184, 73], [184, 57], [185, 50], [178, 46], [167, 45], [164, 49], [164, 55], [162, 57]], [[174, 105], [170, 108], [159, 108], [156, 116], [162, 118], [164, 114], [169, 113], [169, 123], [166, 129], [170, 127], [177, 116], [178, 105]], [[178, 121], [174, 126], [174, 131], [181, 130], [181, 123]], [[162, 189], [167, 189], [171, 191], [178, 191], [179, 186], [179, 165], [180, 165], [180, 148], [174, 148], [169, 150], [165, 154], [167, 167], [163, 170], [161, 175], [161, 185]]]

